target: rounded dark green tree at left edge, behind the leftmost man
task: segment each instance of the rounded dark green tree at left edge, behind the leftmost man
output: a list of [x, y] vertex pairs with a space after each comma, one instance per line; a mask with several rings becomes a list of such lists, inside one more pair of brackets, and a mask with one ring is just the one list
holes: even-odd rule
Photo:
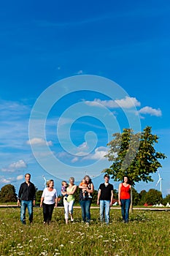
[[17, 202], [15, 187], [12, 184], [7, 184], [1, 188], [0, 202], [1, 203]]

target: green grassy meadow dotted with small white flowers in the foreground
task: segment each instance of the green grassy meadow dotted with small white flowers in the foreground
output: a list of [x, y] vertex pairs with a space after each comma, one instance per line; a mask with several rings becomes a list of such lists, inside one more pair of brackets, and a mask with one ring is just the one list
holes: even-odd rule
[[74, 208], [74, 222], [65, 225], [63, 208], [55, 208], [43, 225], [42, 208], [34, 208], [33, 225], [21, 225], [20, 208], [0, 208], [0, 255], [170, 255], [170, 211], [134, 210], [128, 224], [120, 210], [110, 216], [110, 225], [101, 225], [99, 209], [91, 209], [87, 227]]

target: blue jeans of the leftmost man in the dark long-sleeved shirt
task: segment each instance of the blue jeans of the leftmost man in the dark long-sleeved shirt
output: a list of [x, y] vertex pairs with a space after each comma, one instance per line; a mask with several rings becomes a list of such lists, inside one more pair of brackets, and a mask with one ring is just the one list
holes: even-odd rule
[[23, 224], [26, 224], [26, 208], [28, 208], [29, 222], [33, 220], [33, 201], [21, 200], [20, 207], [20, 220]]

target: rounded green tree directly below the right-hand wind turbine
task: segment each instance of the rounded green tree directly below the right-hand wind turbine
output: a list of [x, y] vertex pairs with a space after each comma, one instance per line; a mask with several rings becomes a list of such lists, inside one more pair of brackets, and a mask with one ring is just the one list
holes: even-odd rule
[[145, 195], [145, 203], [148, 205], [155, 205], [156, 203], [162, 203], [162, 193], [156, 189], [150, 189]]

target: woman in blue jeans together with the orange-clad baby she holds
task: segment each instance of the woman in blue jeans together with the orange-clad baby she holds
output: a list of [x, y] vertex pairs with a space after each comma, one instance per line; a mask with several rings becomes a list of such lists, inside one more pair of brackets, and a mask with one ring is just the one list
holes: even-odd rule
[[[85, 180], [85, 181], [83, 181]], [[90, 206], [92, 201], [92, 193], [94, 191], [93, 183], [88, 175], [83, 178], [79, 185], [80, 188], [80, 206], [82, 208], [82, 220], [88, 225], [90, 223]]]

